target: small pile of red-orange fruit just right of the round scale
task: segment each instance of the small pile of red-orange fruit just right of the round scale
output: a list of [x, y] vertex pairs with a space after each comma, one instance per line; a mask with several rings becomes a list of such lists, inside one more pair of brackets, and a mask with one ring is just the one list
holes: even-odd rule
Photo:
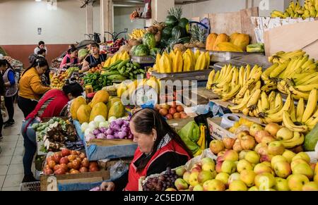
[[167, 118], [167, 120], [172, 119], [183, 119], [187, 118], [187, 113], [184, 112], [182, 105], [177, 105], [176, 101], [172, 101], [170, 104], [155, 105], [155, 110], [160, 113], [161, 116]]

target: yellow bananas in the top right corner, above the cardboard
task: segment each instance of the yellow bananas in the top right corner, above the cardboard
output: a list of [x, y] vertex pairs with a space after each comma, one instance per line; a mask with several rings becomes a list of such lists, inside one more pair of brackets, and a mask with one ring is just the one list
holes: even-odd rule
[[304, 6], [300, 6], [299, 1], [290, 1], [288, 8], [285, 12], [274, 10], [271, 13], [272, 18], [310, 18], [318, 17], [318, 0], [305, 0]]

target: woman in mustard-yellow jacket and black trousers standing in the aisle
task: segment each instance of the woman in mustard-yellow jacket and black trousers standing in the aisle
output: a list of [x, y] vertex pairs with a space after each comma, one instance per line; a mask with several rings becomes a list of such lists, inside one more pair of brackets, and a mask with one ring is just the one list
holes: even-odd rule
[[32, 65], [21, 75], [19, 81], [18, 107], [23, 112], [24, 117], [30, 114], [42, 94], [49, 91], [50, 87], [42, 85], [40, 76], [49, 68], [47, 60], [37, 57]]

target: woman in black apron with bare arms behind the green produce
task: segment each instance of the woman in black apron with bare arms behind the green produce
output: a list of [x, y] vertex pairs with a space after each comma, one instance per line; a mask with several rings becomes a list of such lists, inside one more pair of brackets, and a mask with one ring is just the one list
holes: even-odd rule
[[98, 64], [107, 60], [106, 54], [100, 54], [100, 46], [98, 45], [98, 43], [90, 44], [90, 49], [92, 51], [92, 54], [85, 58], [80, 73], [84, 73], [88, 71], [90, 68], [94, 68], [98, 66]]

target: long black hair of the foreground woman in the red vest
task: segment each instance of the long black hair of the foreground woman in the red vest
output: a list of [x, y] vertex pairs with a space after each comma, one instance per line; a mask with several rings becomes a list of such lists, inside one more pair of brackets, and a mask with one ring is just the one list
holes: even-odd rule
[[157, 139], [155, 139], [155, 144], [153, 144], [153, 151], [151, 152], [151, 155], [148, 156], [146, 159], [142, 159], [141, 163], [139, 163], [139, 166], [137, 168], [137, 171], [143, 170], [143, 168], [146, 167], [150, 159], [155, 154], [155, 149], [157, 149], [159, 143], [161, 142], [161, 139], [165, 137], [165, 135], [169, 135], [177, 144], [179, 144], [185, 151], [187, 151], [187, 154], [192, 158], [193, 154], [187, 147], [187, 145], [183, 142], [181, 137], [173, 130], [170, 125], [168, 125], [167, 121], [163, 118], [163, 116], [158, 113], [158, 111], [155, 111], [153, 108], [144, 108], [141, 111], [138, 111], [134, 114], [134, 116], [131, 117], [131, 122], [135, 125], [135, 130], [138, 133], [150, 135], [153, 129], [157, 131]]

